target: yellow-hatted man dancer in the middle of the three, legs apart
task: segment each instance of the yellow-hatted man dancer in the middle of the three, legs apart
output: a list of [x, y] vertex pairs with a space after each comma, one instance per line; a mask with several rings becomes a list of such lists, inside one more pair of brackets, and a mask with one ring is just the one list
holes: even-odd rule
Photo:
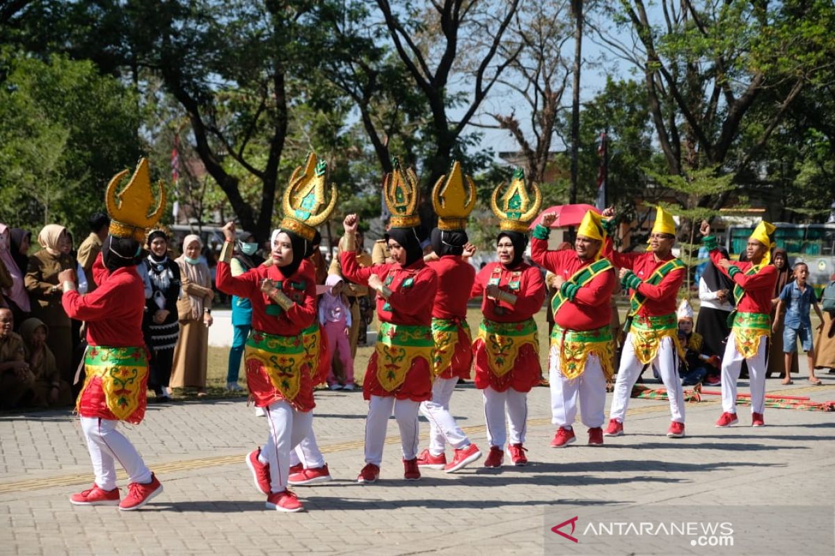
[[[607, 208], [603, 215], [611, 217], [604, 221], [605, 226], [614, 225], [614, 209]], [[629, 333], [620, 355], [606, 436], [624, 433], [623, 423], [632, 386], [644, 366], [655, 363], [670, 398], [672, 419], [667, 436], [684, 437], [684, 393], [679, 377], [677, 352], [681, 347], [677, 335], [676, 297], [684, 282], [686, 266], [672, 255], [675, 243], [676, 224], [672, 215], [660, 207], [655, 212], [650, 249], [646, 253], [618, 253], [612, 247], [610, 238], [605, 242], [604, 256], [620, 268], [620, 284], [632, 291], [627, 317]]]

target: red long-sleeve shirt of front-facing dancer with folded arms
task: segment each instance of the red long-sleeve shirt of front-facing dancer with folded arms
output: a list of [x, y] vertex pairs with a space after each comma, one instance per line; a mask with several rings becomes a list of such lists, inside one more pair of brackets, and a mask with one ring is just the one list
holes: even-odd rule
[[[499, 268], [499, 273], [496, 274], [498, 288], [517, 296], [515, 305], [483, 295], [484, 288], [487, 288], [490, 278], [493, 278], [494, 268]], [[516, 273], [519, 275], [514, 276]], [[519, 289], [510, 289], [508, 283], [516, 280], [519, 280]], [[513, 270], [508, 270], [497, 261], [488, 263], [476, 274], [470, 297], [476, 298], [480, 295], [483, 296], [481, 312], [484, 318], [497, 323], [520, 323], [534, 316], [542, 308], [542, 302], [545, 299], [545, 281], [539, 268], [532, 267], [528, 263], [521, 263]]]

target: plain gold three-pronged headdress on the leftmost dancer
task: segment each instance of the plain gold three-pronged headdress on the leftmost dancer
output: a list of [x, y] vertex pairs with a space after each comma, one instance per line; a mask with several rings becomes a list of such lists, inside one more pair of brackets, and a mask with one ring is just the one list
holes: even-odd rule
[[[142, 243], [145, 230], [153, 228], [162, 218], [165, 209], [165, 188], [159, 184], [159, 203], [154, 203], [151, 181], [148, 173], [148, 159], [139, 158], [133, 177], [120, 193], [116, 193], [119, 183], [129, 170], [117, 173], [104, 193], [104, 205], [110, 215], [110, 235], [116, 238], [133, 238]], [[154, 208], [154, 213], [149, 211]]]

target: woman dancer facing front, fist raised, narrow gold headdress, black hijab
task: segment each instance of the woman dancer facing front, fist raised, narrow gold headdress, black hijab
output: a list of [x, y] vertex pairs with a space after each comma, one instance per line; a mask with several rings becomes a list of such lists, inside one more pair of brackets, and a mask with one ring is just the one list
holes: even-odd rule
[[345, 250], [340, 255], [342, 274], [351, 282], [377, 291], [380, 321], [377, 345], [368, 360], [362, 383], [362, 395], [369, 404], [366, 465], [357, 477], [359, 483], [375, 483], [380, 476], [382, 448], [392, 410], [400, 428], [403, 478], [420, 479], [417, 411], [421, 402], [432, 398], [432, 307], [438, 276], [423, 262], [423, 249], [417, 237], [420, 185], [412, 169], [402, 169], [395, 160], [394, 171], [383, 180], [383, 192], [392, 213], [386, 239], [394, 263], [360, 268], [357, 215], [349, 214], [342, 223], [346, 236]]

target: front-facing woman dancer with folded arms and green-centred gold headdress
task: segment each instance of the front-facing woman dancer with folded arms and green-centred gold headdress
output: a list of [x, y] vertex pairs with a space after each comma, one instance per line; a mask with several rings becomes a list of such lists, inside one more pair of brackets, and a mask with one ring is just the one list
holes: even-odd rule
[[[528, 417], [528, 393], [539, 383], [539, 337], [534, 314], [542, 308], [545, 282], [539, 268], [524, 263], [528, 223], [542, 202], [534, 183], [530, 206], [524, 174], [514, 172], [504, 206], [498, 208], [499, 185], [493, 191], [493, 213], [501, 221], [496, 238], [498, 261], [487, 263], [476, 275], [470, 298], [481, 297], [483, 321], [473, 342], [475, 386], [483, 392], [484, 418], [490, 452], [484, 467], [501, 467], [507, 439], [505, 409], [510, 428], [508, 454], [514, 465], [526, 465], [523, 446]], [[524, 201], [519, 201], [519, 199]], [[524, 205], [524, 206], [522, 206]]]

